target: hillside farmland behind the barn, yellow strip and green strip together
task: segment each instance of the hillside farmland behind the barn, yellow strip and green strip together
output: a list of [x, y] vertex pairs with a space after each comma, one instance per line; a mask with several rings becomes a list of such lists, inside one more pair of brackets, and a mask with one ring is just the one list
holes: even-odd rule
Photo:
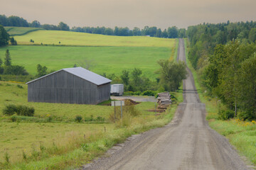
[[[157, 77], [154, 71], [159, 68], [157, 61], [173, 56], [177, 45], [175, 39], [58, 30], [36, 30], [14, 38], [18, 45], [1, 47], [0, 55], [4, 56], [8, 48], [13, 64], [23, 65], [32, 75], [36, 74], [37, 64], [45, 65], [48, 70], [58, 70], [89, 63], [92, 72], [97, 74], [106, 72], [119, 76], [123, 69], [131, 71], [137, 67], [142, 69], [143, 76], [153, 80]], [[30, 42], [31, 39], [34, 43]]]

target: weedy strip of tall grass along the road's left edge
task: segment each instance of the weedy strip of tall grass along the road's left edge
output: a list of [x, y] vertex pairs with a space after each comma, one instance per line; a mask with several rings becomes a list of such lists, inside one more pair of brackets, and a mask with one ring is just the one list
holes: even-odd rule
[[166, 125], [171, 121], [176, 111], [177, 104], [169, 108], [168, 113], [159, 118], [149, 122], [143, 120], [133, 120], [132, 125], [128, 127], [115, 128], [110, 132], [99, 132], [97, 135], [91, 135], [88, 140], [80, 144], [78, 149], [73, 150], [63, 155], [53, 155], [48, 159], [42, 161], [34, 161], [21, 164], [16, 164], [11, 169], [71, 169], [74, 167], [87, 164], [95, 157], [104, 154], [107, 149], [116, 145], [117, 143], [124, 142], [127, 137], [150, 130], [151, 128], [158, 128]]

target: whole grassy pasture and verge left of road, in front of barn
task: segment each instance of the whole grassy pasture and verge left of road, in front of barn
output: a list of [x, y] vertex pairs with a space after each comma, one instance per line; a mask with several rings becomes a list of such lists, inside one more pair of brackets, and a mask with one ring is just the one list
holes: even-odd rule
[[[169, 123], [177, 107], [174, 104], [167, 113], [156, 116], [146, 111], [154, 109], [154, 103], [140, 103], [135, 106], [138, 116], [111, 123], [109, 115], [114, 109], [111, 106], [28, 103], [26, 84], [19, 84], [23, 89], [16, 83], [0, 81], [0, 84], [1, 110], [11, 103], [36, 109], [33, 117], [20, 117], [16, 122], [1, 113], [0, 169], [65, 169], [86, 164], [130, 135]], [[182, 91], [173, 94], [182, 101]], [[105, 121], [75, 123], [75, 115], [81, 115], [83, 120], [91, 115], [100, 116]]]

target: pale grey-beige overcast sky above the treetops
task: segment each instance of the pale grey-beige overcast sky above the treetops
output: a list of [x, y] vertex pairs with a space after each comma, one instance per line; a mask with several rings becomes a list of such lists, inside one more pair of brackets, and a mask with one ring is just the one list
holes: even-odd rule
[[0, 0], [0, 14], [58, 25], [187, 28], [255, 21], [256, 0]]

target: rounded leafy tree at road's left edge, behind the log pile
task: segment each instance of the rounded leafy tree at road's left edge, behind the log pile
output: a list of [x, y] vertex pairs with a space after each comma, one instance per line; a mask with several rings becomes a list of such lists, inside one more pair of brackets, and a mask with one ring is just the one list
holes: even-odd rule
[[159, 60], [159, 74], [161, 84], [166, 91], [176, 91], [181, 85], [181, 81], [186, 79], [186, 64], [184, 62], [169, 62], [169, 60]]

